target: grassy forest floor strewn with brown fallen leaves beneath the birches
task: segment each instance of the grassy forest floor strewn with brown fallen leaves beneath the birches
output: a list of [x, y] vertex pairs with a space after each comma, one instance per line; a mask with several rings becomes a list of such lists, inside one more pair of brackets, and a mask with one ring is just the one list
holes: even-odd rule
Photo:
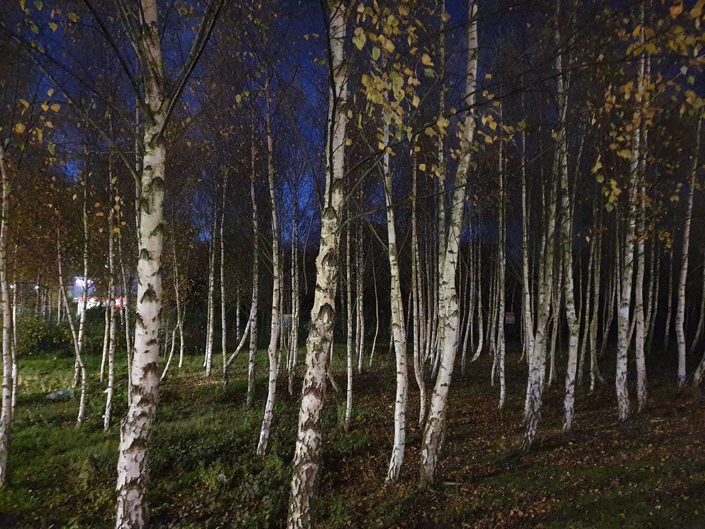
[[[343, 383], [343, 348], [336, 355]], [[338, 426], [345, 395], [329, 390], [317, 506], [321, 528], [705, 528], [705, 407], [688, 391], [675, 391], [675, 375], [656, 365], [666, 363], [663, 358], [649, 365], [649, 406], [624, 424], [617, 421], [613, 379], [593, 395], [583, 385], [570, 434], [560, 431], [563, 376], [558, 377], [546, 391], [540, 437], [528, 454], [519, 449], [526, 365], [508, 354], [503, 411], [497, 410], [498, 387], [489, 383], [489, 355], [469, 364], [466, 377], [458, 366], [441, 459], [443, 485], [422, 491], [417, 488], [422, 432], [411, 372], [403, 472], [400, 482], [384, 484], [395, 375], [391, 358], [378, 355], [375, 367], [355, 375], [350, 432]], [[258, 360], [252, 409], [243, 407], [244, 355], [226, 391], [217, 375], [202, 374], [201, 358], [188, 356], [181, 370], [171, 367], [150, 449], [151, 528], [283, 526], [300, 380], [289, 396], [286, 377], [279, 379], [269, 456], [256, 458], [266, 398], [264, 351]], [[10, 484], [0, 491], [1, 528], [112, 526], [125, 370], [118, 368], [113, 426], [103, 432], [99, 362], [88, 359], [88, 419], [77, 428], [78, 399], [44, 399], [68, 387], [73, 359], [22, 359]], [[214, 372], [218, 365], [214, 361]]]

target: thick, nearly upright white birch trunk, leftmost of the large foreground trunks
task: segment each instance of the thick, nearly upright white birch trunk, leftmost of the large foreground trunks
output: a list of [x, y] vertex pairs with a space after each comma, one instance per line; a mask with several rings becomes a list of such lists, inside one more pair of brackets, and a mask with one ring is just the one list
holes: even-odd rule
[[140, 186], [139, 260], [135, 351], [130, 383], [133, 391], [122, 422], [118, 451], [116, 528], [142, 528], [147, 523], [149, 433], [159, 399], [159, 329], [161, 327], [161, 250], [164, 245], [164, 124], [166, 98], [161, 64], [157, 3], [142, 0], [140, 42], [145, 101], [144, 157]]

